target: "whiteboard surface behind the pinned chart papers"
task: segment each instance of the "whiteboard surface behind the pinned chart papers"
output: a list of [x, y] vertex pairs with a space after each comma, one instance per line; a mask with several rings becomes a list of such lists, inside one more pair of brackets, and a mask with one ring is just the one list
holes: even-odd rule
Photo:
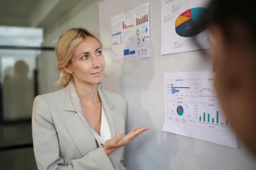
[[[113, 62], [111, 18], [150, 2], [152, 57]], [[102, 87], [122, 93], [128, 102], [127, 131], [150, 130], [126, 146], [128, 170], [256, 170], [256, 161], [243, 144], [230, 148], [162, 131], [164, 73], [208, 71], [211, 62], [200, 51], [161, 55], [160, 0], [99, 2], [100, 38], [106, 60]]]

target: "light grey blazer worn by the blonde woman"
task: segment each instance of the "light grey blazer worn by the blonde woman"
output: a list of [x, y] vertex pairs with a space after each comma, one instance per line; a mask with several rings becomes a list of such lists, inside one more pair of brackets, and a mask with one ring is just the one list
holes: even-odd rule
[[[126, 128], [127, 103], [118, 93], [98, 88], [112, 139]], [[88, 124], [73, 82], [34, 99], [32, 137], [38, 170], [126, 170], [124, 147], [106, 155]]]

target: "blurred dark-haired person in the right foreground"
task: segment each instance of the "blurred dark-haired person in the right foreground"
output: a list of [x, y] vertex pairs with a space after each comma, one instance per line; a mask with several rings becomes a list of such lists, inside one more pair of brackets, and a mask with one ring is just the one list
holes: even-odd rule
[[256, 22], [254, 1], [212, 0], [210, 33], [220, 105], [247, 150], [256, 156]]

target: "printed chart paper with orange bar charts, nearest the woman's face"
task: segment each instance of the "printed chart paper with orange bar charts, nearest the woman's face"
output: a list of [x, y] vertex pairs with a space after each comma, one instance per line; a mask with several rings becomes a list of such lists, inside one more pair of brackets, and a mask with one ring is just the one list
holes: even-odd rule
[[111, 18], [113, 61], [151, 57], [149, 6]]

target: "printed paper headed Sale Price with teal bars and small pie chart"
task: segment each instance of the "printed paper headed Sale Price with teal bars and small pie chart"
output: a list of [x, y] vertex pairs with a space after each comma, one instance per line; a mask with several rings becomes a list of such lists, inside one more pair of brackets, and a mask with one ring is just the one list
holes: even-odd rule
[[212, 71], [164, 73], [163, 131], [237, 148], [225, 118]]

